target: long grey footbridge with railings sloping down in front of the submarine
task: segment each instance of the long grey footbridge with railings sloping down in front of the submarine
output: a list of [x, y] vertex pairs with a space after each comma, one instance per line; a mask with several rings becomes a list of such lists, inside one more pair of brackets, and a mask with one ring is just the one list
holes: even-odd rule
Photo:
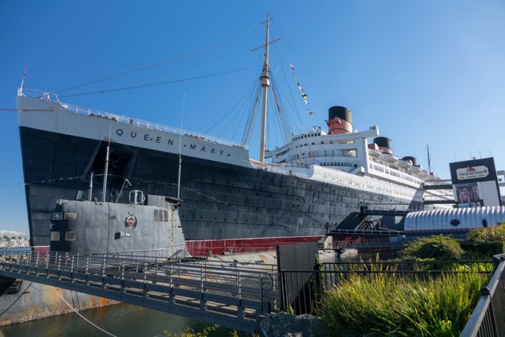
[[0, 277], [111, 298], [253, 333], [278, 308], [276, 265], [77, 253], [0, 256]]

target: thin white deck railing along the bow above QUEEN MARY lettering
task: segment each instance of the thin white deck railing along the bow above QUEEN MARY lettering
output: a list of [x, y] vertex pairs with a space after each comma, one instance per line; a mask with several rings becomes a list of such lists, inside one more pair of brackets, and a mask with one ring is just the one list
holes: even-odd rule
[[58, 102], [62, 105], [62, 107], [65, 107], [66, 110], [68, 110], [69, 112], [75, 112], [76, 114], [87, 114], [88, 116], [102, 117], [105, 119], [111, 119], [113, 121], [119, 121], [124, 124], [131, 124], [134, 126], [149, 128], [150, 130], [175, 133], [176, 135], [181, 135], [181, 136], [190, 136], [190, 137], [198, 138], [200, 140], [204, 140], [208, 143], [236, 146], [236, 147], [242, 147], [244, 149], [247, 149], [247, 146], [243, 143], [236, 143], [236, 142], [232, 142], [231, 140], [225, 140], [225, 139], [217, 138], [214, 136], [204, 135], [203, 133], [196, 133], [196, 132], [184, 130], [182, 128], [175, 128], [173, 126], [166, 126], [163, 124], [153, 123], [151, 121], [144, 121], [142, 119], [136, 119], [136, 118], [127, 117], [124, 115], [112, 114], [110, 112], [102, 112], [100, 110], [88, 109], [87, 107], [79, 107], [77, 105], [62, 103], [62, 102], [60, 102], [58, 95], [56, 95], [55, 93], [48, 93], [48, 92], [44, 92], [44, 91], [23, 88], [22, 91], [18, 91], [18, 95], [22, 95], [25, 97], [31, 97], [31, 98], [39, 98], [41, 100], [49, 100], [49, 101], [53, 101], [53, 102]]

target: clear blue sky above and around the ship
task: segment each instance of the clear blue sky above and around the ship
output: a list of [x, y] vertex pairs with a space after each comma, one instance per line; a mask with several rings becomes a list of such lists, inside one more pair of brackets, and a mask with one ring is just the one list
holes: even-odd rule
[[[259, 23], [267, 12], [274, 17], [271, 37], [282, 38], [271, 48], [271, 69], [298, 123], [293, 128], [302, 124], [297, 114], [306, 126], [324, 126], [328, 107], [344, 105], [353, 110], [356, 129], [379, 125], [400, 157], [412, 155], [427, 166], [429, 143], [433, 168], [442, 178], [449, 178], [454, 159], [490, 153], [497, 169], [505, 169], [502, 0], [0, 0], [0, 107], [15, 107], [26, 61], [27, 88], [58, 91], [196, 52], [65, 93], [248, 69], [60, 100], [180, 126], [185, 94], [183, 128], [203, 133], [257, 78], [262, 53], [251, 50], [262, 44]], [[243, 32], [248, 34], [234, 39]], [[314, 117], [299, 98], [290, 63]], [[209, 133], [240, 140], [245, 116], [238, 112], [244, 113], [237, 109]], [[0, 229], [27, 232], [17, 116], [0, 113]], [[282, 139], [274, 126], [269, 147]], [[252, 141], [251, 157], [257, 158], [257, 137]]]

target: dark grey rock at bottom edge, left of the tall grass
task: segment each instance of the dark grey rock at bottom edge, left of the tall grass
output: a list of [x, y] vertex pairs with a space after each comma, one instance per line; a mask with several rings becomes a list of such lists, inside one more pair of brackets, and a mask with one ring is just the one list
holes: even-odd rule
[[320, 319], [311, 315], [292, 315], [278, 312], [260, 322], [263, 337], [315, 337]]

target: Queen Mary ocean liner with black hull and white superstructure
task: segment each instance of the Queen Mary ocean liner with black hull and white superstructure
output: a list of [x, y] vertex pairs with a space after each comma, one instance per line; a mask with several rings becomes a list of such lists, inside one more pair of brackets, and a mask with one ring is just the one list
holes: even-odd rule
[[[268, 46], [267, 20], [263, 116]], [[292, 134], [274, 150], [264, 145], [263, 118], [262, 151], [255, 161], [244, 143], [77, 107], [23, 86], [17, 103], [36, 251], [50, 246], [57, 199], [127, 203], [128, 189], [177, 197], [189, 252], [206, 255], [315, 241], [370, 205], [412, 209], [422, 203], [423, 181], [434, 179], [415, 158], [398, 159], [377, 126], [354, 131], [345, 107], [330, 107], [327, 131]], [[384, 218], [383, 224], [397, 221]]]

